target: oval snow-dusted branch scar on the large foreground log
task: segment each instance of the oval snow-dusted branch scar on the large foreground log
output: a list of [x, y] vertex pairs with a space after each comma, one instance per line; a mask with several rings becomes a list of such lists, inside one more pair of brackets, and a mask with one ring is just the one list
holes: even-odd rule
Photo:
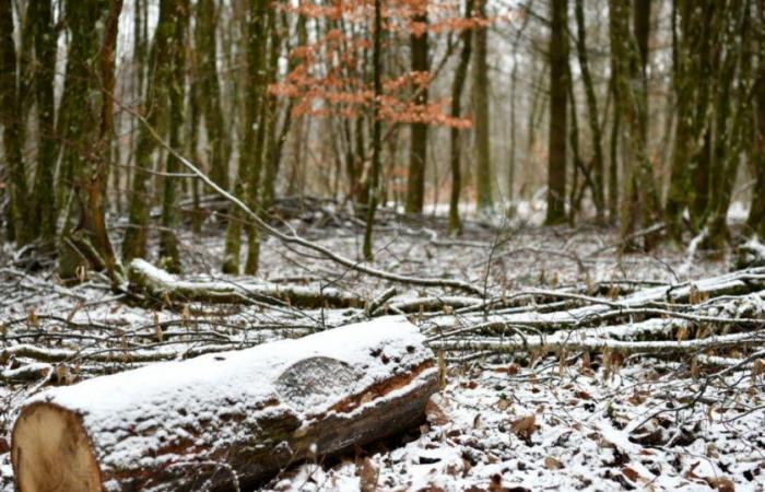
[[313, 408], [342, 394], [362, 374], [349, 364], [331, 358], [310, 358], [287, 367], [276, 379], [281, 401], [298, 412]]

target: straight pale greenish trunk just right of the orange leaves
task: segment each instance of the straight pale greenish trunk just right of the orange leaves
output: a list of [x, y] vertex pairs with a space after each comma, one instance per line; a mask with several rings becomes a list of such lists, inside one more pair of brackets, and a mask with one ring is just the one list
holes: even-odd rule
[[[558, 1], [558, 0], [555, 0]], [[483, 21], [486, 20], [486, 0], [475, 0], [475, 14]], [[475, 57], [473, 65], [473, 104], [475, 106], [475, 157], [476, 157], [476, 188], [479, 209], [492, 209], [492, 156], [489, 124], [489, 65], [487, 58], [489, 28], [482, 23], [475, 28]]]

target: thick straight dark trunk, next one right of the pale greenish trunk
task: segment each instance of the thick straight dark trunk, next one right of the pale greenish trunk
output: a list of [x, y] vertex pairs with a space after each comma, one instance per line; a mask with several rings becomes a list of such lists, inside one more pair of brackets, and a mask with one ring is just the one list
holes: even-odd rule
[[568, 104], [567, 0], [550, 3], [550, 136], [545, 224], [566, 221], [566, 139]]

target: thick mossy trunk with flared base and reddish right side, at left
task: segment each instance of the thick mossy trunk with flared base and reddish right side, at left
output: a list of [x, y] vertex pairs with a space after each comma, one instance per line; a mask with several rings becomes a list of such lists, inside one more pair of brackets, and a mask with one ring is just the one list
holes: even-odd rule
[[[73, 190], [59, 242], [59, 274], [63, 279], [79, 279], [85, 269], [105, 269], [115, 284], [125, 281], [104, 216], [114, 129], [114, 54], [121, 10], [121, 0], [64, 3], [71, 35], [64, 84], [72, 103], [67, 106], [71, 113], [67, 115], [64, 159], [71, 165]], [[97, 35], [94, 25], [103, 26]]]

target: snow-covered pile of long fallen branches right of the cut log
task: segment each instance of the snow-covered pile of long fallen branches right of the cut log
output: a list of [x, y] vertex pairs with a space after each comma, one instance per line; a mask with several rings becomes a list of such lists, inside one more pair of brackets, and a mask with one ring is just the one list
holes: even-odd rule
[[[449, 352], [523, 356], [590, 351], [707, 356], [717, 351], [745, 355], [765, 344], [765, 268], [640, 290], [620, 298], [540, 290], [523, 294], [533, 311], [432, 317], [429, 345]], [[566, 301], [563, 308], [561, 301]]]

